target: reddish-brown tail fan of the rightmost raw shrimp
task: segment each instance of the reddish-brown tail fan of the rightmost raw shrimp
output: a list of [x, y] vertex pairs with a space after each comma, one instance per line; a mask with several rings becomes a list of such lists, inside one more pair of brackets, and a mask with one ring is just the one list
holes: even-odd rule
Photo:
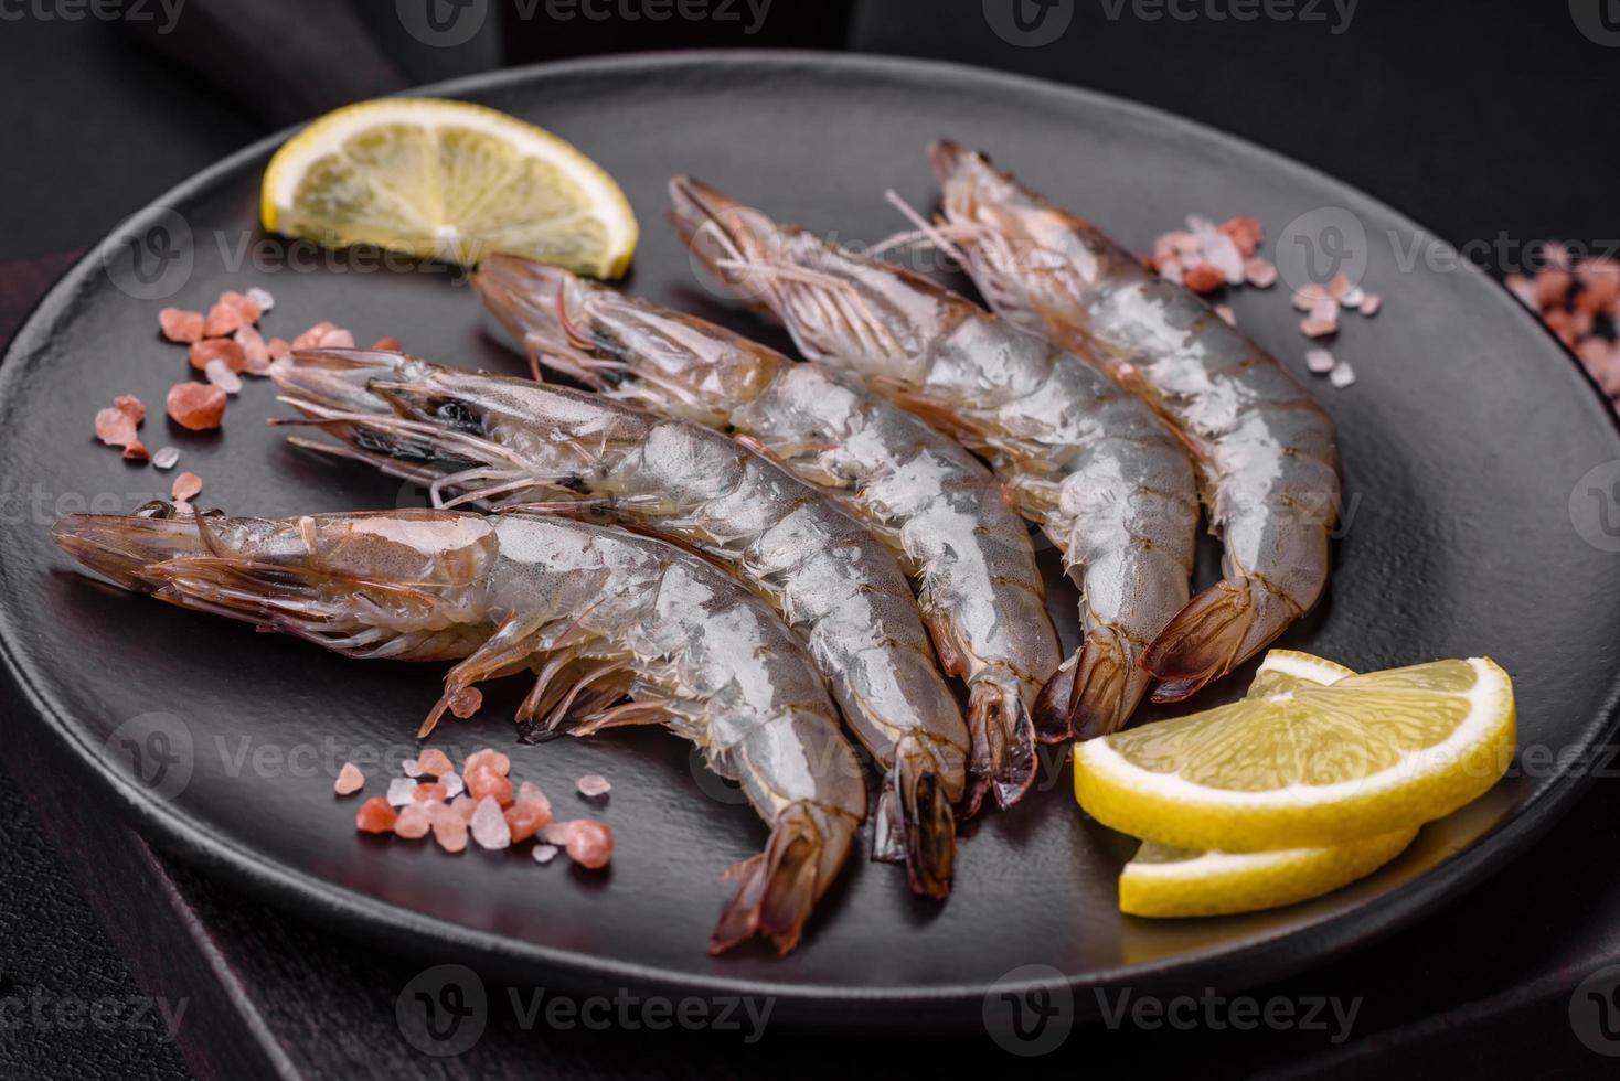
[[1192, 597], [1142, 655], [1160, 685], [1155, 702], [1179, 702], [1226, 675], [1302, 615], [1252, 576], [1226, 578]]

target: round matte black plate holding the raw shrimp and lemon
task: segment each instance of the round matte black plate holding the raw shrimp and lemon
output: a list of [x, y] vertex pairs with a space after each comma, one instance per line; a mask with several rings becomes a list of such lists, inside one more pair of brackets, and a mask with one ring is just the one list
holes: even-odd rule
[[[1027, 964], [1051, 966], [1076, 987], [1139, 989], [1236, 986], [1311, 964], [1502, 867], [1570, 806], [1589, 772], [1583, 752], [1604, 740], [1615, 707], [1607, 659], [1620, 529], [1604, 515], [1614, 511], [1620, 440], [1570, 358], [1487, 278], [1450, 269], [1450, 249], [1411, 222], [1171, 117], [954, 66], [690, 55], [541, 68], [437, 92], [575, 141], [619, 178], [642, 218], [630, 288], [760, 333], [703, 291], [663, 227], [671, 173], [692, 172], [842, 240], [875, 241], [904, 227], [885, 188], [930, 204], [923, 147], [951, 134], [1139, 248], [1189, 210], [1254, 214], [1290, 243], [1286, 225], [1312, 215], [1304, 231], [1364, 257], [1364, 283], [1385, 307], [1375, 319], [1346, 316], [1333, 348], [1359, 382], [1333, 390], [1302, 374], [1306, 341], [1285, 290], [1231, 301], [1239, 325], [1317, 390], [1345, 448], [1348, 521], [1332, 594], [1280, 644], [1356, 668], [1490, 654], [1518, 688], [1521, 762], [1349, 888], [1252, 916], [1153, 922], [1116, 913], [1115, 877], [1131, 843], [1077, 811], [1055, 756], [1040, 793], [967, 829], [949, 903], [914, 901], [894, 867], [852, 861], [786, 960], [703, 952], [729, 890], [721, 871], [765, 837], [752, 812], [664, 733], [514, 746], [502, 710], [517, 688], [444, 735], [462, 749], [507, 749], [562, 814], [588, 812], [575, 806], [575, 777], [608, 775], [614, 790], [601, 814], [619, 837], [611, 872], [358, 837], [355, 803], [332, 796], [334, 770], [347, 757], [408, 754], [437, 668], [343, 660], [100, 589], [47, 537], [58, 513], [133, 510], [167, 490], [173, 474], [126, 464], [91, 437], [94, 411], [126, 392], [152, 408], [146, 443], [180, 447], [181, 466], [204, 477], [206, 505], [293, 515], [421, 503], [361, 468], [285, 447], [261, 422], [280, 411], [262, 382], [232, 401], [222, 434], [165, 430], [164, 393], [188, 372], [185, 351], [156, 333], [165, 304], [207, 307], [224, 288], [258, 285], [275, 296], [266, 333], [292, 338], [334, 319], [361, 341], [395, 335], [428, 358], [520, 371], [486, 333], [470, 290], [442, 269], [324, 259], [264, 236], [256, 210], [271, 141], [183, 184], [75, 267], [0, 369], [0, 461], [11, 485], [0, 634], [18, 712], [66, 741], [160, 843], [421, 955], [478, 958], [530, 979], [773, 994], [781, 1015], [938, 1023], [977, 1015], [987, 987]], [[1317, 228], [1333, 220], [1346, 228]], [[1604, 463], [1609, 473], [1588, 476]], [[1071, 642], [1072, 600], [1064, 586], [1053, 591]], [[1202, 704], [1246, 681], [1247, 672]], [[1076, 997], [1081, 1011], [1094, 1003]]]

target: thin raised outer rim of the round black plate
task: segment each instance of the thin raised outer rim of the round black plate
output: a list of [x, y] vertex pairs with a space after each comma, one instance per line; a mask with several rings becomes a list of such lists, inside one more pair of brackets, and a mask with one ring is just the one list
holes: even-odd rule
[[[938, 83], [949, 79], [957, 83], [974, 83], [985, 87], [1011, 91], [1022, 95], [1037, 95], [1063, 100], [1066, 105], [1082, 105], [1094, 110], [1111, 112], [1134, 125], [1152, 126], [1173, 136], [1192, 138], [1204, 142], [1220, 144], [1243, 157], [1247, 157], [1265, 168], [1281, 170], [1298, 180], [1309, 181], [1330, 193], [1348, 209], [1362, 207], [1387, 217], [1396, 227], [1422, 235], [1429, 241], [1455, 254], [1450, 241], [1440, 238], [1432, 230], [1416, 223], [1408, 215], [1388, 204], [1346, 184], [1311, 165], [1286, 157], [1277, 150], [1262, 147], [1243, 136], [1236, 136], [1210, 125], [1204, 125], [1186, 117], [1166, 112], [1153, 105], [1144, 105], [1129, 99], [1103, 94], [1076, 86], [1066, 86], [1048, 79], [1013, 74], [993, 68], [980, 68], [943, 60], [925, 60], [914, 57], [881, 55], [881, 53], [841, 53], [818, 50], [765, 50], [765, 49], [703, 49], [703, 50], [671, 50], [659, 53], [620, 53], [604, 57], [586, 57], [562, 60], [520, 68], [505, 68], [491, 73], [463, 76], [442, 83], [399, 91], [390, 97], [460, 97], [504, 89], [536, 79], [569, 78], [569, 76], [658, 76], [671, 70], [693, 68], [774, 68], [850, 71], [859, 74], [899, 74], [917, 83]], [[133, 214], [122, 218], [100, 241], [84, 251], [84, 254], [68, 267], [44, 296], [32, 306], [18, 325], [0, 356], [0, 416], [11, 406], [15, 384], [23, 379], [19, 372], [26, 367], [29, 338], [37, 335], [37, 327], [49, 322], [65, 303], [92, 275], [94, 269], [113, 249], [115, 241], [136, 222], [159, 214], [165, 207], [180, 204], [191, 196], [207, 189], [220, 178], [240, 170], [246, 162], [264, 155], [280, 146], [290, 134], [305, 125], [293, 125], [264, 139], [254, 141], [233, 154], [225, 155], [207, 168], [185, 178], [159, 197], [149, 201]], [[1592, 392], [1589, 406], [1597, 408], [1607, 419], [1607, 430], [1620, 443], [1620, 416], [1605, 408], [1602, 392], [1584, 366], [1570, 353], [1557, 337], [1524, 311], [1523, 304], [1507, 290], [1489, 280], [1489, 275], [1471, 261], [1456, 259], [1455, 264], [1468, 275], [1482, 278], [1481, 285], [1494, 296], [1498, 306], [1518, 311], [1524, 319], [1550, 340], [1557, 351], [1573, 366], [1578, 379], [1583, 379]], [[1620, 445], [1617, 445], [1620, 451]], [[1620, 456], [1620, 453], [1617, 453]], [[96, 748], [89, 746], [75, 727], [66, 722], [57, 704], [50, 702], [29, 680], [26, 665], [16, 655], [13, 646], [16, 626], [8, 605], [0, 604], [0, 668], [6, 681], [18, 693], [15, 707], [8, 710], [18, 715], [23, 723], [44, 723], [60, 738], [60, 744], [68, 751], [73, 767], [97, 777], [117, 801], [128, 808], [133, 825], [159, 846], [188, 863], [209, 871], [233, 872], [227, 882], [243, 887], [272, 905], [293, 911], [316, 909], [322, 918], [330, 918], [343, 932], [353, 934], [368, 942], [407, 943], [416, 955], [458, 952], [462, 960], [481, 961], [489, 968], [512, 969], [543, 968], [570, 981], [575, 986], [601, 984], [604, 981], [627, 982], [638, 987], [658, 987], [682, 992], [705, 994], [745, 994], [776, 998], [776, 1008], [782, 1010], [782, 1020], [825, 1021], [838, 1020], [855, 1023], [857, 1026], [886, 1024], [896, 1021], [907, 1028], [932, 1028], [944, 1020], [953, 1010], [982, 1008], [988, 986], [967, 984], [935, 984], [927, 987], [893, 986], [893, 987], [847, 987], [816, 982], [779, 982], [768, 979], [732, 977], [724, 974], [703, 974], [669, 969], [656, 964], [640, 964], [604, 958], [577, 950], [541, 945], [520, 939], [510, 939], [496, 932], [467, 927], [447, 919], [426, 916], [423, 913], [392, 905], [381, 898], [342, 887], [314, 874], [287, 867], [253, 848], [243, 846], [217, 835], [204, 822], [178, 812], [167, 801], [154, 798], [147, 790], [112, 767]], [[34, 717], [26, 717], [32, 714]], [[1602, 714], [1588, 725], [1584, 748], [1614, 738], [1620, 730], [1620, 681], [1609, 688], [1609, 697]], [[1085, 989], [1136, 986], [1145, 987], [1168, 981], [1213, 981], [1231, 989], [1249, 987], [1259, 982], [1275, 982], [1294, 974], [1307, 966], [1320, 964], [1346, 952], [1369, 945], [1390, 932], [1411, 924], [1424, 914], [1430, 914], [1447, 900], [1455, 900], [1466, 890], [1476, 887], [1490, 874], [1510, 864], [1524, 848], [1549, 830], [1557, 819], [1568, 811], [1581, 795], [1586, 793], [1594, 777], [1591, 770], [1578, 769], [1573, 761], [1562, 765], [1557, 774], [1533, 799], [1508, 822], [1492, 829], [1473, 845], [1453, 853], [1440, 864], [1430, 867], [1416, 879], [1405, 882], [1390, 892], [1369, 900], [1356, 908], [1325, 916], [1320, 922], [1307, 927], [1264, 934], [1239, 945], [1215, 945], [1171, 958], [1157, 958], [1136, 964], [1115, 964], [1090, 973], [1061, 973], [1061, 982], [1072, 992]], [[322, 921], [324, 922], [324, 921]], [[1298, 950], [1294, 945], [1306, 939], [1309, 950]], [[813, 948], [813, 942], [807, 948]], [[1053, 981], [1030, 979], [1024, 982], [998, 982], [996, 989], [1009, 994], [1027, 994], [1038, 989], [1051, 989]], [[1084, 997], [1076, 1000], [1076, 1013], [1085, 1016], [1081, 1008]], [[872, 1010], [878, 1007], [880, 1011]], [[928, 1015], [897, 1015], [899, 1008], [915, 1010], [915, 1007], [933, 1007]], [[786, 1008], [786, 1010], [784, 1010]], [[909, 1024], [907, 1024], [909, 1023]]]

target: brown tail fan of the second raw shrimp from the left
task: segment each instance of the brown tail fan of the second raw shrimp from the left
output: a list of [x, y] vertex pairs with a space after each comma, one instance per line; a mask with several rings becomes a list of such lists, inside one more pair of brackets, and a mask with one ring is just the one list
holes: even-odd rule
[[878, 793], [872, 858], [904, 863], [912, 893], [944, 900], [956, 861], [956, 814], [933, 756], [915, 736], [894, 744], [894, 765]]

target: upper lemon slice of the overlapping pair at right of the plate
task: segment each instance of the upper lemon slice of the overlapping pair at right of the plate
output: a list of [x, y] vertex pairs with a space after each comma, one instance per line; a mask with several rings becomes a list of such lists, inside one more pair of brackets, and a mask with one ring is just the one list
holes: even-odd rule
[[1315, 848], [1455, 811], [1502, 777], [1515, 738], [1507, 673], [1437, 660], [1079, 743], [1074, 790], [1105, 825], [1176, 848]]

